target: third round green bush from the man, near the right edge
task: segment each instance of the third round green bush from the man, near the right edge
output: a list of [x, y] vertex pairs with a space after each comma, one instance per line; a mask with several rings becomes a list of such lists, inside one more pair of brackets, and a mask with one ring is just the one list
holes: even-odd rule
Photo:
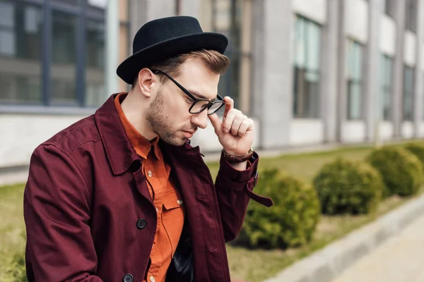
[[423, 164], [401, 147], [382, 147], [373, 150], [367, 160], [381, 173], [386, 190], [384, 196], [414, 195], [423, 183]]

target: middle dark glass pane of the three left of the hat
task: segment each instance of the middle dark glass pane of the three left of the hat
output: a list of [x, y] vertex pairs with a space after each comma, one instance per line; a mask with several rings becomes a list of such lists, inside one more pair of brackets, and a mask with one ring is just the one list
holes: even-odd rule
[[76, 103], [77, 19], [59, 11], [52, 13], [52, 103]]

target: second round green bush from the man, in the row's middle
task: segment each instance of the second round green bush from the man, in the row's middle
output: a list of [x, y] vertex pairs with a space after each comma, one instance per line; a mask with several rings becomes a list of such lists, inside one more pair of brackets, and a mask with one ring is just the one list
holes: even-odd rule
[[368, 214], [375, 211], [384, 184], [379, 172], [363, 161], [336, 159], [314, 178], [324, 214]]

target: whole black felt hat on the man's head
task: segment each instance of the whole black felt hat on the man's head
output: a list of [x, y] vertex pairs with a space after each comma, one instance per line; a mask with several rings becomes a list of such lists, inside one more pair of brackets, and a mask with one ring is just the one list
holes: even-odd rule
[[225, 35], [203, 32], [196, 18], [176, 16], [152, 20], [136, 33], [133, 54], [118, 66], [117, 75], [132, 84], [139, 71], [153, 63], [199, 49], [223, 54], [227, 45]]

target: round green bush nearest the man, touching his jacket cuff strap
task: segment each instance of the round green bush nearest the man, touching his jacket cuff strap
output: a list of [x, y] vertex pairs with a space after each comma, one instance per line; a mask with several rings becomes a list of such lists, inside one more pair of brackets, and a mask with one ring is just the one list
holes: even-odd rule
[[271, 197], [273, 207], [251, 201], [237, 243], [249, 247], [285, 248], [312, 239], [319, 219], [319, 200], [311, 185], [276, 169], [261, 173], [254, 191]]

